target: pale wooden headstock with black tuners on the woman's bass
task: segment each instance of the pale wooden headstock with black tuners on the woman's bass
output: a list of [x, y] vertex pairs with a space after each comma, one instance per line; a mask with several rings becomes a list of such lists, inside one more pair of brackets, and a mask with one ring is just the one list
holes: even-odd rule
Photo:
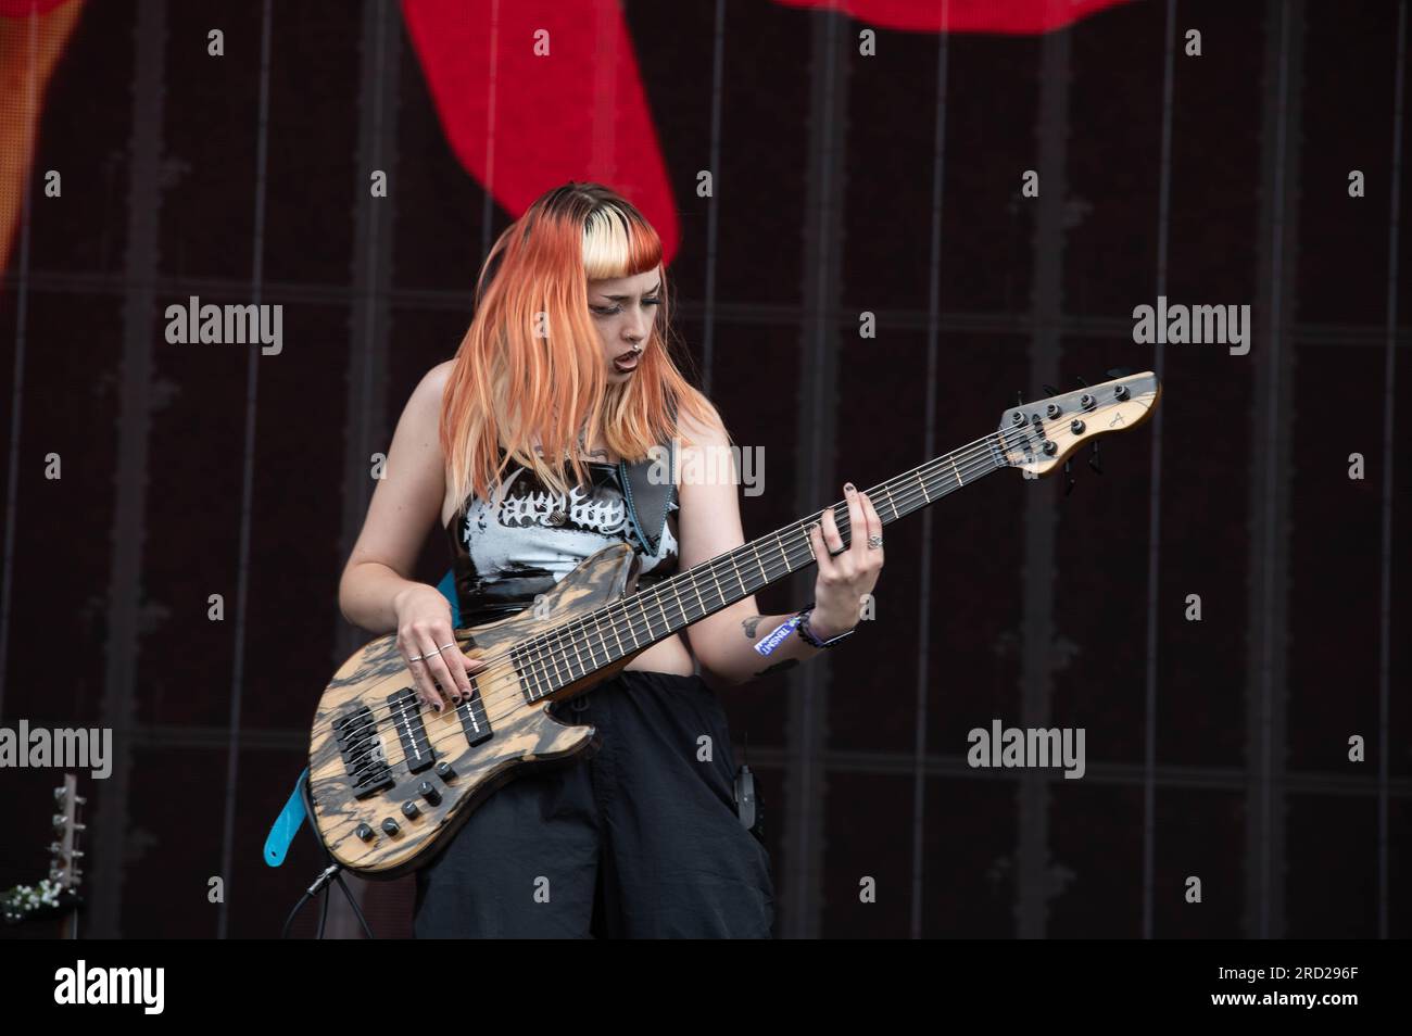
[[998, 445], [1005, 463], [1041, 478], [1084, 442], [1141, 425], [1161, 395], [1156, 374], [1142, 371], [1018, 404], [1001, 416]]

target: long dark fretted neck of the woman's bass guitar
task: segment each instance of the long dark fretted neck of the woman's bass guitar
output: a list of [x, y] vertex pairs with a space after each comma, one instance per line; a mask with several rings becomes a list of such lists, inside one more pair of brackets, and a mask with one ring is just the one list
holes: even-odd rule
[[[866, 490], [884, 525], [1007, 467], [998, 433], [962, 446]], [[853, 542], [847, 501], [833, 504], [844, 546]], [[517, 648], [521, 666], [539, 668], [556, 686], [582, 679], [664, 641], [679, 630], [813, 565], [809, 526], [816, 511], [760, 539], [702, 562], [590, 615]], [[548, 692], [545, 692], [548, 693]]]

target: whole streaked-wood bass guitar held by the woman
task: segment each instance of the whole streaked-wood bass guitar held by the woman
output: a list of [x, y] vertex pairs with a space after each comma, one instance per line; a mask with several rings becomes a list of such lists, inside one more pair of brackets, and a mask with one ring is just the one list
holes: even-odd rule
[[[1137, 428], [1161, 395], [1151, 371], [1005, 411], [1000, 428], [867, 490], [890, 524], [993, 471], [1055, 471], [1084, 442]], [[472, 693], [422, 706], [387, 634], [347, 659], [323, 690], [309, 742], [313, 821], [333, 860], [364, 878], [397, 878], [497, 788], [539, 766], [586, 759], [599, 744], [549, 704], [613, 677], [658, 641], [813, 563], [815, 512], [637, 591], [638, 556], [614, 543], [586, 558], [532, 608], [456, 631], [483, 659]], [[849, 508], [833, 505], [843, 542]], [[450, 703], [448, 703], [449, 706]]]

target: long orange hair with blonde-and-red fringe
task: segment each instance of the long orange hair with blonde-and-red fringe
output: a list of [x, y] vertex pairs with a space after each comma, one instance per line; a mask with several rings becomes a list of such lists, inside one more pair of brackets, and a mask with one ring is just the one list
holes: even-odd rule
[[[641, 460], [678, 436], [679, 411], [720, 421], [668, 351], [666, 271], [661, 311], [638, 368], [611, 384], [589, 313], [589, 281], [658, 268], [662, 243], [642, 215], [606, 186], [566, 183], [542, 195], [496, 240], [476, 284], [476, 315], [442, 395], [441, 446], [452, 498], [489, 498], [511, 462], [568, 493], [562, 467], [585, 483], [579, 435]], [[535, 452], [538, 438], [544, 450]], [[689, 443], [688, 443], [689, 445]], [[500, 457], [504, 449], [504, 459]]]

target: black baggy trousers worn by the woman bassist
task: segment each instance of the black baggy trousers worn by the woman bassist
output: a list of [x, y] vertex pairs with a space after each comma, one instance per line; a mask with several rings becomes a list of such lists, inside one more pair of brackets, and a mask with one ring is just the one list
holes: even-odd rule
[[467, 817], [417, 871], [417, 937], [771, 937], [770, 854], [736, 816], [716, 692], [624, 669], [551, 709], [597, 727], [602, 748]]

